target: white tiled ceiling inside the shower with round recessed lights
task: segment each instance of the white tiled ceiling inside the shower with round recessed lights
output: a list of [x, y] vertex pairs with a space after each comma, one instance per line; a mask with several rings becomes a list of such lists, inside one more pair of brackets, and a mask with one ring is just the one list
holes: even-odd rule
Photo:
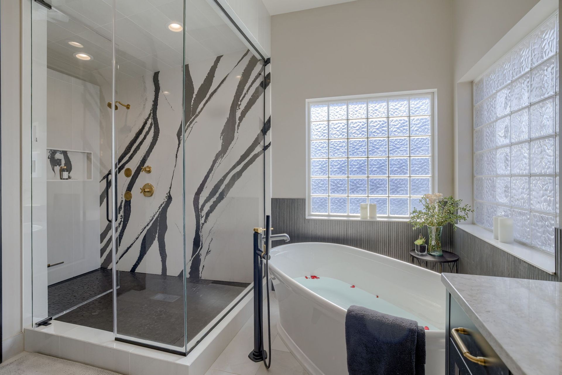
[[[47, 17], [47, 65], [85, 78], [111, 77], [112, 0], [52, 0]], [[183, 33], [167, 29], [183, 20], [184, 0], [121, 0], [115, 11], [119, 74], [139, 76], [182, 65]], [[62, 13], [61, 13], [62, 12]], [[246, 46], [206, 0], [185, 0], [185, 63], [240, 51]], [[72, 47], [78, 42], [83, 48]], [[87, 53], [81, 61], [74, 53]]]

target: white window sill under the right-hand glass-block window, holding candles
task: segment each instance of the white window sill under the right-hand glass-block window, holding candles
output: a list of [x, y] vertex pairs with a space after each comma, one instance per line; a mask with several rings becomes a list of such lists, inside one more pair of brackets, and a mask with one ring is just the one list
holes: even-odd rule
[[546, 253], [545, 251], [530, 248], [519, 243], [505, 244], [493, 238], [493, 233], [478, 225], [474, 224], [457, 224], [459, 229], [464, 230], [481, 240], [486, 241], [488, 244], [496, 246], [515, 257], [532, 264], [533, 266], [548, 272], [551, 275], [555, 274], [554, 254]]

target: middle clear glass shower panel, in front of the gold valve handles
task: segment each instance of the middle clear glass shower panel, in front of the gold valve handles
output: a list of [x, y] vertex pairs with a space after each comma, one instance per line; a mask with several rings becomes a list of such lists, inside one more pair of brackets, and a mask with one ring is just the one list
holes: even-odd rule
[[164, 3], [116, 7], [115, 330], [185, 353], [184, 0]]

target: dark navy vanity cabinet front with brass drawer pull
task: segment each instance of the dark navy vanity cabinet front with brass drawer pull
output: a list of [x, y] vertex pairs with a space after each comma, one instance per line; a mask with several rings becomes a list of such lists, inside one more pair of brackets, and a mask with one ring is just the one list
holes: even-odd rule
[[446, 369], [448, 375], [510, 375], [509, 369], [448, 292]]

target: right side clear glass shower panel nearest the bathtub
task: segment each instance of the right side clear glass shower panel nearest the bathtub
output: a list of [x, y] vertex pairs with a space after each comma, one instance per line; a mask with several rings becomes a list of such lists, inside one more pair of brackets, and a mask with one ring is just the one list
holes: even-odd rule
[[[196, 36], [190, 30], [185, 36], [186, 292], [189, 298], [192, 283], [210, 282], [200, 304], [220, 300], [218, 309], [209, 309], [205, 326], [188, 326], [188, 353], [251, 292], [252, 228], [264, 226], [270, 212], [265, 59], [218, 2], [194, 3], [212, 12], [222, 38], [239, 47], [197, 60], [189, 54]], [[186, 8], [186, 18], [187, 13]], [[232, 290], [220, 289], [228, 287]], [[192, 308], [197, 303], [188, 304], [188, 322]]]

